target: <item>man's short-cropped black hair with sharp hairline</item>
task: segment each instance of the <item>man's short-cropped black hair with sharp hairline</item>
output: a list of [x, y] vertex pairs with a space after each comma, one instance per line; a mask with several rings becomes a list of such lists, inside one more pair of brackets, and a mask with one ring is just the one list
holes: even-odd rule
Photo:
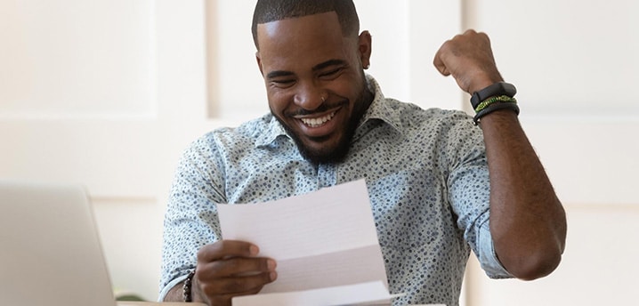
[[257, 44], [257, 25], [288, 18], [303, 17], [322, 12], [336, 12], [343, 36], [357, 36], [360, 19], [352, 0], [258, 0], [253, 13], [253, 42]]

